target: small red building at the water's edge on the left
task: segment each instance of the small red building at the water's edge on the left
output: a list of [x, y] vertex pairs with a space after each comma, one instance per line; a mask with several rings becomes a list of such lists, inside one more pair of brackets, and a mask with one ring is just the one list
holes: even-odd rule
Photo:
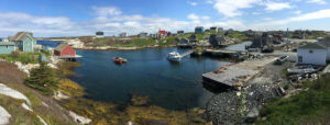
[[58, 56], [61, 59], [73, 60], [76, 57], [76, 50], [67, 44], [59, 44], [54, 49], [54, 55]]

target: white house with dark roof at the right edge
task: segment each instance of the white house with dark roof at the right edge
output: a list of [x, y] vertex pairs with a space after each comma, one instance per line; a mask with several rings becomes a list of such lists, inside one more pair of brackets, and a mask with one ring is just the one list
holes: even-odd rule
[[330, 60], [330, 38], [307, 44], [298, 48], [297, 63], [310, 65], [327, 65]]

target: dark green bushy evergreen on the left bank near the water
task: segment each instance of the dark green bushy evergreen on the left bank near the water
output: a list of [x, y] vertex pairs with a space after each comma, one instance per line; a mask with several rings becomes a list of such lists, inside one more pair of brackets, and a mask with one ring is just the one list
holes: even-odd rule
[[58, 80], [54, 70], [45, 63], [41, 63], [38, 68], [32, 69], [24, 83], [40, 90], [43, 94], [53, 94], [53, 91], [58, 88]]

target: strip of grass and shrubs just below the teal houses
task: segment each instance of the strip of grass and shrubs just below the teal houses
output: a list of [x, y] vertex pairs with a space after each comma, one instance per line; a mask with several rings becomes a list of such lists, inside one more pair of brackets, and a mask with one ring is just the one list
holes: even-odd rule
[[37, 64], [38, 57], [44, 54], [47, 57], [51, 55], [50, 52], [33, 52], [33, 53], [23, 53], [23, 52], [12, 52], [11, 54], [0, 55], [1, 59], [7, 61], [21, 61], [22, 64]]

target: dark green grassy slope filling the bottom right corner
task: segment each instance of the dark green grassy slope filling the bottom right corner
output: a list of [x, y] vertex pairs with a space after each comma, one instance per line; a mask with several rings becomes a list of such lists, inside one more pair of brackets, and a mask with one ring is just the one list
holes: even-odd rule
[[316, 81], [305, 81], [304, 89], [287, 99], [275, 98], [270, 101], [257, 124], [327, 124], [330, 121], [330, 73]]

